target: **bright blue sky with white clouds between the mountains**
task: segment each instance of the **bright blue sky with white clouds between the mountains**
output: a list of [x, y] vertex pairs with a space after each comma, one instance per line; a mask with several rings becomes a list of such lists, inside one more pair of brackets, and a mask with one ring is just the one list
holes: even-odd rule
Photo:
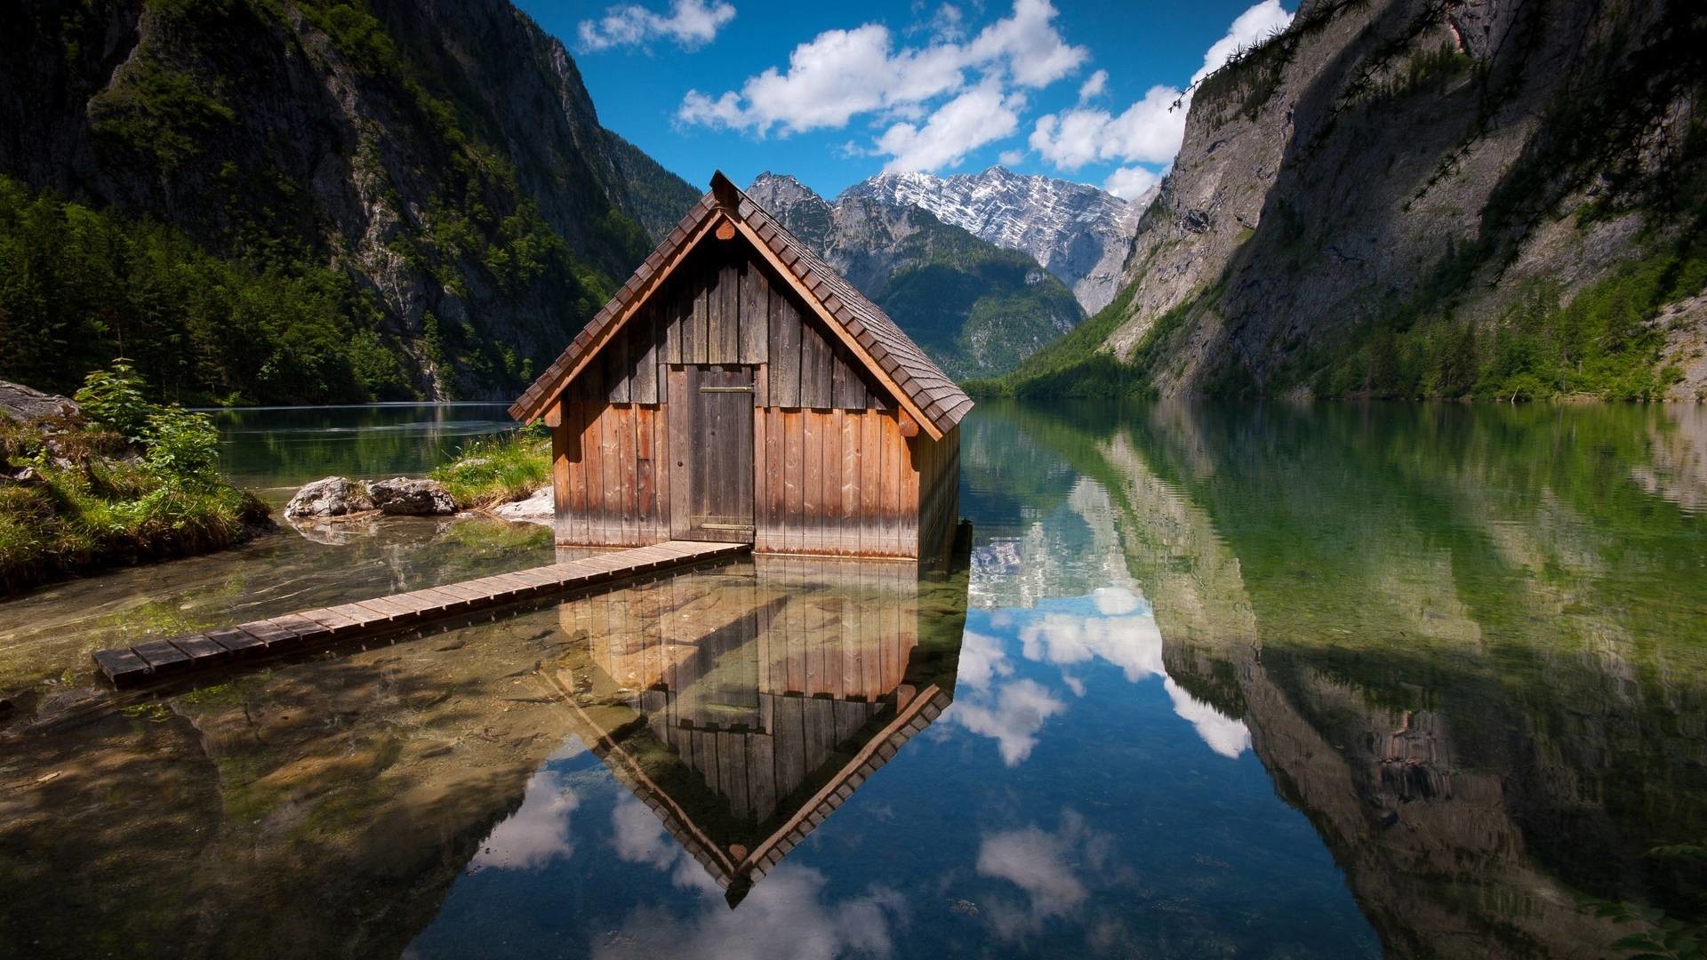
[[1290, 19], [1280, 0], [519, 5], [601, 121], [695, 186], [775, 171], [826, 196], [997, 162], [1137, 195], [1178, 150], [1181, 91]]

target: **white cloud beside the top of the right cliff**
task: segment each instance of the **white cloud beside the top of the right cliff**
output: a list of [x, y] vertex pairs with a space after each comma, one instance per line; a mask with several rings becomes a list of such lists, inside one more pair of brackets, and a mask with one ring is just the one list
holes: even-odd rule
[[[1261, 0], [1250, 7], [1232, 20], [1226, 36], [1210, 44], [1203, 55], [1203, 67], [1191, 75], [1191, 84], [1226, 63], [1238, 50], [1285, 29], [1289, 22], [1292, 14], [1280, 7], [1280, 0]], [[1092, 75], [1091, 80], [1094, 79]], [[1091, 80], [1086, 80], [1086, 87]], [[1031, 130], [1031, 147], [1058, 169], [1074, 171], [1092, 161], [1168, 164], [1180, 152], [1185, 114], [1191, 106], [1190, 91], [1151, 87], [1118, 116], [1082, 106], [1084, 99], [1081, 96], [1081, 106], [1072, 109], [1040, 116]], [[1176, 101], [1178, 108], [1173, 106]]]

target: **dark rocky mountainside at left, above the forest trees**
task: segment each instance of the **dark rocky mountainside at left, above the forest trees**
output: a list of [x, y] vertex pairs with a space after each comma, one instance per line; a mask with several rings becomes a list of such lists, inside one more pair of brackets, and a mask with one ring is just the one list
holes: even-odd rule
[[0, 79], [0, 173], [347, 273], [437, 398], [512, 389], [698, 195], [507, 0], [32, 2]]

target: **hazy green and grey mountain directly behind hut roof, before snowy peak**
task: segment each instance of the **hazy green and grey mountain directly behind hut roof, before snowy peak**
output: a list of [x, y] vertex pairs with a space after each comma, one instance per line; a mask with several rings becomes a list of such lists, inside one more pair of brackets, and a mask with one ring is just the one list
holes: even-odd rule
[[1004, 374], [1084, 319], [1072, 292], [1036, 260], [920, 207], [852, 191], [830, 203], [775, 174], [761, 174], [748, 195], [956, 379]]

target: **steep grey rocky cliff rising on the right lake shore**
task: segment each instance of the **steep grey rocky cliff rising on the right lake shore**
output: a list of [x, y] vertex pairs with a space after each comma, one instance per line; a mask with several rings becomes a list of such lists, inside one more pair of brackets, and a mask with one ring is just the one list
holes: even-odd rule
[[1693, 396], [1704, 20], [1306, 2], [1203, 80], [1123, 297], [1031, 372], [1089, 362], [1162, 395]]

